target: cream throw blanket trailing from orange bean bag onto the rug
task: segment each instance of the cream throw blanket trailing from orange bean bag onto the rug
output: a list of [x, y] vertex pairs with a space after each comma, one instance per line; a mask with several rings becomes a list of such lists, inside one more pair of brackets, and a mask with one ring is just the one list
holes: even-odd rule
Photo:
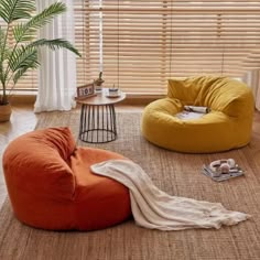
[[235, 225], [249, 217], [227, 210], [220, 203], [171, 196], [155, 187], [148, 174], [131, 161], [109, 160], [91, 165], [91, 171], [129, 188], [133, 218], [145, 228], [220, 228], [221, 225]]

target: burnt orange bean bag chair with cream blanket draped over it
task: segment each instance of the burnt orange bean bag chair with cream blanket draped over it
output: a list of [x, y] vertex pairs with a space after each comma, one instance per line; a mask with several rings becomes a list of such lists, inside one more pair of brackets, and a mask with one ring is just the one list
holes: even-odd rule
[[50, 128], [13, 140], [3, 154], [3, 171], [14, 215], [51, 230], [94, 230], [131, 216], [129, 191], [90, 172], [90, 165], [123, 156], [76, 148], [68, 128]]

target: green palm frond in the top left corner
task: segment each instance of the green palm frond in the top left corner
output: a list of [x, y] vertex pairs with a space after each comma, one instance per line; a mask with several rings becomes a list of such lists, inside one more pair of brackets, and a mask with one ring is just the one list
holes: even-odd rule
[[10, 24], [19, 19], [30, 19], [35, 11], [32, 0], [0, 0], [0, 17]]

